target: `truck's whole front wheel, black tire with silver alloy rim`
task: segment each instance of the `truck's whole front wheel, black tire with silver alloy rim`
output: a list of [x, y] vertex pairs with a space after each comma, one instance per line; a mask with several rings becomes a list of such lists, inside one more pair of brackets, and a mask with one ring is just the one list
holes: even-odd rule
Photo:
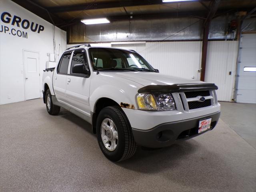
[[100, 149], [109, 160], [126, 160], [136, 152], [130, 123], [120, 107], [111, 106], [100, 111], [96, 132]]

